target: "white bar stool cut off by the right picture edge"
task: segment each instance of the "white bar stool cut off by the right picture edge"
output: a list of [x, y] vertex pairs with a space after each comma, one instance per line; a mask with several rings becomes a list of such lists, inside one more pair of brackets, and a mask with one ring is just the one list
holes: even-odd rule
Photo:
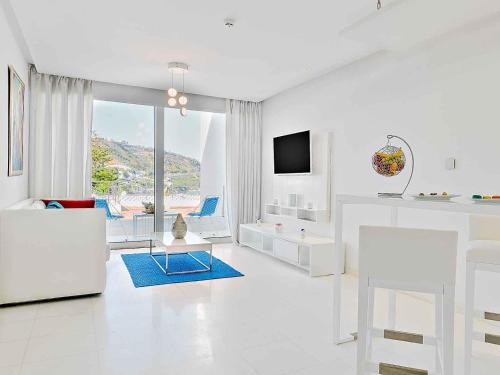
[[465, 293], [465, 366], [464, 374], [471, 374], [472, 341], [500, 345], [500, 336], [474, 331], [474, 315], [481, 319], [500, 322], [500, 314], [474, 310], [476, 271], [500, 273], [500, 218], [471, 215], [469, 218], [467, 250], [467, 277]]

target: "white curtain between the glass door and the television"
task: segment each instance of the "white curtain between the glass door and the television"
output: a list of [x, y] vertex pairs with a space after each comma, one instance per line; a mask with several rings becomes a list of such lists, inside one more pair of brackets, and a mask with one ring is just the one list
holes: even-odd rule
[[260, 218], [262, 160], [261, 103], [226, 102], [226, 185], [229, 228], [239, 241], [239, 225]]

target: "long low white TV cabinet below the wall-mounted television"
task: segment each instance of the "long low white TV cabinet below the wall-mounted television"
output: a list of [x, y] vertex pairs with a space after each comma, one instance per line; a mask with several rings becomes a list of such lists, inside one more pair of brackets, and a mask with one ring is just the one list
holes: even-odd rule
[[[328, 237], [298, 233], [277, 233], [274, 224], [241, 224], [240, 245], [250, 247], [309, 272], [310, 276], [333, 275], [335, 241]], [[345, 247], [342, 247], [345, 269]], [[344, 271], [343, 271], [344, 272]]]

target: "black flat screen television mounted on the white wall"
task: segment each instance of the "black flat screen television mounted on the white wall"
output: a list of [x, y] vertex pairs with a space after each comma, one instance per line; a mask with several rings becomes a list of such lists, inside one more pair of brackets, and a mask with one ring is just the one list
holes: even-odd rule
[[310, 131], [283, 135], [273, 140], [274, 174], [311, 173]]

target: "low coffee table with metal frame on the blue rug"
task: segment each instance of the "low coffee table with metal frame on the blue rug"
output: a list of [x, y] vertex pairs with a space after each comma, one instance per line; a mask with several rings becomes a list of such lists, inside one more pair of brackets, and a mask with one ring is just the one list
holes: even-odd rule
[[[183, 239], [176, 239], [170, 232], [155, 232], [148, 236], [149, 241], [149, 255], [156, 262], [158, 267], [161, 268], [166, 275], [180, 275], [186, 273], [198, 273], [198, 272], [211, 272], [212, 271], [212, 243], [204, 240], [198, 235], [187, 232]], [[165, 266], [160, 264], [156, 257], [162, 256], [161, 254], [153, 253], [153, 243], [156, 247], [161, 248], [165, 252]], [[201, 260], [194, 257], [190, 252], [192, 251], [207, 251], [210, 254], [209, 264], [203, 263]], [[197, 263], [199, 263], [203, 268], [199, 270], [188, 270], [188, 271], [168, 271], [168, 259], [171, 256], [186, 254], [193, 258]]]

